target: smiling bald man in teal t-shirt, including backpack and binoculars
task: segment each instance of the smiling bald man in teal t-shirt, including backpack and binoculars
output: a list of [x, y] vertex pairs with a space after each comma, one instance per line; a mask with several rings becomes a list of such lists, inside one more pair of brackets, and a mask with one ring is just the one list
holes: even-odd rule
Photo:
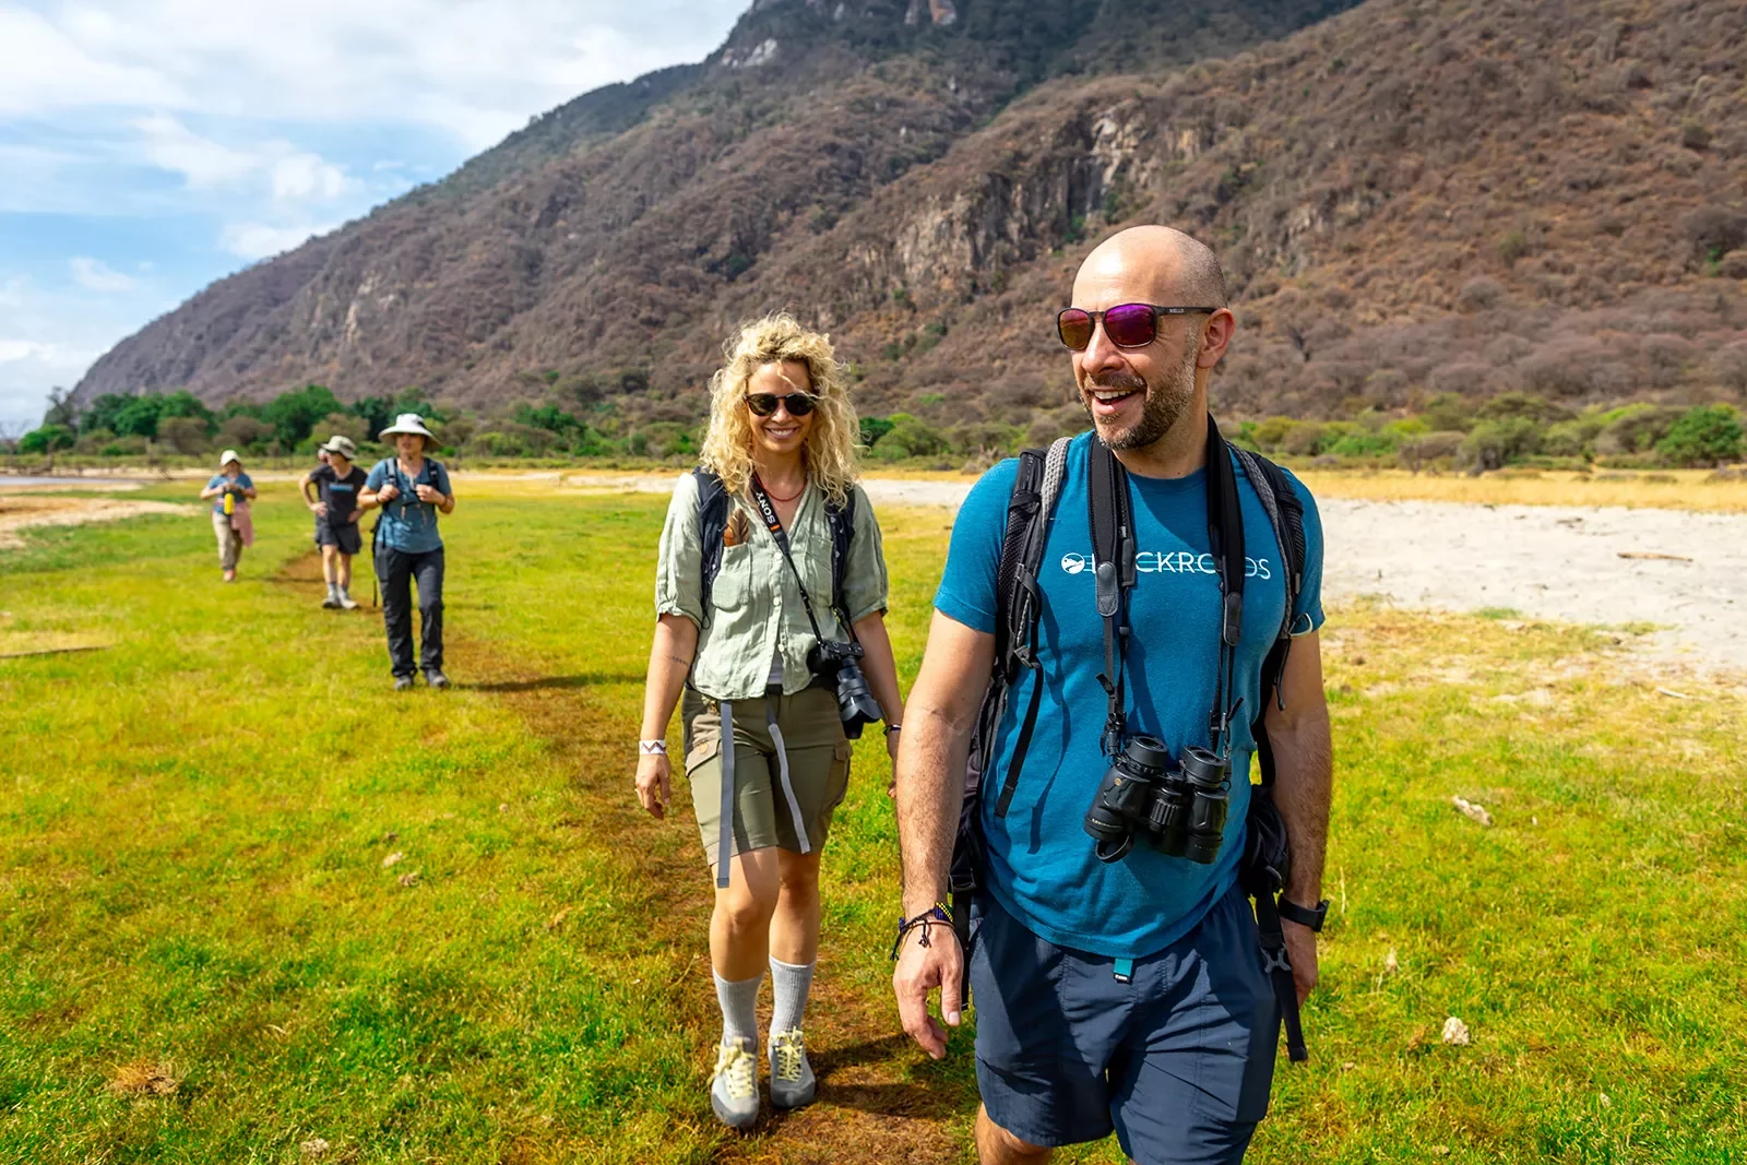
[[1057, 316], [1095, 431], [989, 470], [952, 527], [898, 755], [893, 989], [938, 1058], [968, 966], [984, 1165], [1111, 1132], [1139, 1165], [1239, 1162], [1282, 1017], [1305, 1055], [1322, 531], [1207, 412], [1235, 328], [1190, 236], [1097, 246]]

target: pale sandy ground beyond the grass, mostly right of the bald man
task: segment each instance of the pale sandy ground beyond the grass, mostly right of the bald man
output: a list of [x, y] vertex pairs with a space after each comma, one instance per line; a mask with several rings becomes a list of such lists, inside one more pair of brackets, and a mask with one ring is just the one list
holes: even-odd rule
[[[667, 493], [673, 482], [624, 475], [587, 479], [587, 487]], [[971, 484], [868, 479], [863, 486], [875, 505], [956, 510]], [[1644, 636], [1642, 658], [1747, 672], [1744, 514], [1345, 498], [1319, 508], [1326, 603], [1371, 597], [1450, 611], [1508, 608], [1572, 624], [1654, 624], [1661, 631]]]

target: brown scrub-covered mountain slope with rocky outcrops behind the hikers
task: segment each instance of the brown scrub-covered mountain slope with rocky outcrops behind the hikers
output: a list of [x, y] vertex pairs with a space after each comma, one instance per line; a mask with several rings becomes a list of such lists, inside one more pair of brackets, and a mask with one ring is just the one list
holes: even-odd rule
[[1747, 3], [1370, 0], [1288, 35], [1322, 16], [760, 0], [704, 65], [213, 285], [79, 391], [559, 379], [685, 419], [732, 323], [788, 307], [872, 410], [1046, 428], [1048, 316], [1129, 222], [1221, 252], [1232, 409], [1733, 391]]

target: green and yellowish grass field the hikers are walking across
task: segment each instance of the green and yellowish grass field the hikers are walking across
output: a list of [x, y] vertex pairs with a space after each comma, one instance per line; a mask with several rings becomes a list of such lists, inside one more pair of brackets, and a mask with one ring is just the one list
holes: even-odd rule
[[[875, 739], [826, 859], [821, 1104], [715, 1125], [708, 872], [631, 795], [664, 500], [458, 486], [447, 693], [397, 697], [379, 618], [320, 610], [290, 486], [234, 587], [197, 510], [0, 554], [7, 650], [107, 645], [0, 660], [0, 1160], [973, 1160], [970, 1032], [935, 1065], [891, 1006]], [[908, 679], [949, 519], [882, 519]], [[1251, 1160], [1747, 1156], [1742, 702], [1626, 679], [1616, 638], [1331, 611], [1312, 1062]]]

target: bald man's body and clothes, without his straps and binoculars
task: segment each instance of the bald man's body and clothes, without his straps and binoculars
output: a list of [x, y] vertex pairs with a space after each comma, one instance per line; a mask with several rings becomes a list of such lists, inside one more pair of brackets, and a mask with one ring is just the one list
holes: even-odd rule
[[[947, 896], [966, 753], [996, 651], [996, 573], [1017, 461], [971, 489], [952, 527], [922, 669], [896, 760], [903, 917], [893, 987], [905, 1031], [933, 1057], [959, 1024], [970, 973], [977, 1004], [977, 1148], [984, 1165], [1046, 1162], [1055, 1146], [1116, 1134], [1141, 1165], [1237, 1162], [1267, 1113], [1279, 1006], [1263, 971], [1256, 917], [1237, 884], [1249, 807], [1251, 716], [1267, 707], [1275, 803], [1293, 844], [1282, 913], [1300, 1003], [1315, 985], [1315, 933], [1328, 831], [1331, 749], [1317, 629], [1322, 531], [1305, 512], [1305, 561], [1286, 610], [1282, 552], [1261, 498], [1235, 473], [1246, 531], [1242, 636], [1230, 651], [1230, 805], [1205, 865], [1139, 842], [1095, 852], [1087, 810], [1109, 765], [1104, 620], [1094, 601], [1087, 508], [1092, 442], [1127, 470], [1134, 585], [1118, 688], [1125, 739], [1157, 737], [1172, 763], [1209, 748], [1221, 672], [1221, 583], [1211, 554], [1207, 377], [1237, 320], [1219, 264], [1165, 227], [1123, 231], [1094, 250], [1057, 320], [1092, 433], [1067, 445], [1066, 475], [1039, 568], [1038, 667], [1015, 681], [989, 744], [980, 789], [1012, 788], [1006, 812], [977, 803], [980, 886], [970, 957], [928, 924]], [[1104, 454], [1099, 452], [1099, 459]], [[1233, 458], [1235, 463], [1235, 458]], [[1289, 618], [1289, 622], [1288, 622]], [[1261, 665], [1293, 634], [1279, 692]], [[1029, 742], [1020, 721], [1041, 685]], [[1020, 751], [1024, 748], [1024, 751]], [[1022, 774], [1012, 772], [1015, 753]], [[1008, 786], [1008, 779], [1017, 781]], [[928, 997], [940, 990], [940, 1020]], [[1291, 989], [1286, 989], [1288, 996]]]

